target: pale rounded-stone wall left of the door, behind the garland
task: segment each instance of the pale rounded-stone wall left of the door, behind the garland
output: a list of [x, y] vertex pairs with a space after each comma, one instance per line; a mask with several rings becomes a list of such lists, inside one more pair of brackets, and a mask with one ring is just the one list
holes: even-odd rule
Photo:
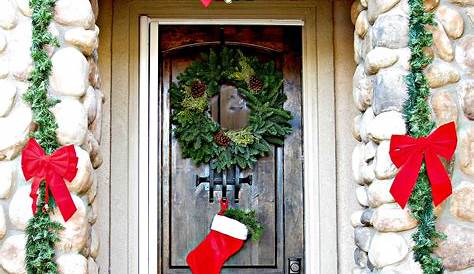
[[[21, 99], [32, 70], [28, 2], [0, 2], [0, 273], [26, 273], [24, 230], [32, 216], [30, 184], [23, 178], [19, 156], [35, 129], [30, 107]], [[67, 223], [58, 212], [53, 216], [65, 227], [56, 247], [60, 273], [98, 273], [94, 169], [102, 163], [104, 98], [97, 69], [96, 16], [97, 2], [58, 0], [50, 26], [61, 44], [49, 49], [53, 62], [50, 94], [61, 99], [52, 108], [59, 126], [57, 137], [61, 145], [74, 144], [79, 157], [77, 176], [67, 184], [77, 212]]]

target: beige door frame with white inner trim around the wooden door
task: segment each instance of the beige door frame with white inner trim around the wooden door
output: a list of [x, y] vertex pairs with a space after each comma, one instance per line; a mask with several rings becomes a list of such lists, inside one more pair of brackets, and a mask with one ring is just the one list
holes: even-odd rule
[[[119, 1], [111, 94], [111, 273], [158, 273], [158, 27], [160, 24], [303, 26], [305, 273], [337, 273], [332, 3], [258, 0]], [[150, 25], [156, 26], [150, 28]], [[156, 58], [156, 59], [151, 59]], [[153, 73], [151, 73], [153, 72]], [[151, 78], [149, 78], [151, 77]], [[155, 78], [153, 78], [155, 77]], [[124, 227], [124, 224], [127, 224]]]

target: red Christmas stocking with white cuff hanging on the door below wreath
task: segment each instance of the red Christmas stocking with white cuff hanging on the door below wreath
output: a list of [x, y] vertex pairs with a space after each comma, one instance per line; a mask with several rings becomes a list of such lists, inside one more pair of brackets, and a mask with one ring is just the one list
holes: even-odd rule
[[[223, 214], [223, 210], [219, 214]], [[248, 230], [244, 224], [216, 215], [212, 221], [211, 232], [186, 258], [191, 272], [193, 274], [221, 273], [224, 263], [242, 248], [247, 234]]]

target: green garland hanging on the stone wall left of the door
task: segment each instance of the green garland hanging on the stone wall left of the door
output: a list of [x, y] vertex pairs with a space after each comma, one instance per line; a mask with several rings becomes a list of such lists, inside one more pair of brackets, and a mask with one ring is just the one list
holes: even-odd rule
[[[32, 47], [31, 57], [34, 70], [29, 78], [30, 87], [23, 99], [31, 105], [33, 120], [38, 130], [32, 134], [47, 154], [51, 154], [59, 144], [56, 139], [57, 124], [49, 110], [57, 101], [48, 98], [51, 60], [46, 51], [48, 45], [57, 46], [57, 40], [49, 33], [48, 27], [53, 19], [55, 0], [30, 0], [32, 14]], [[38, 197], [38, 211], [28, 221], [26, 227], [26, 270], [29, 274], [58, 273], [54, 261], [54, 245], [59, 241], [58, 231], [61, 224], [50, 218], [54, 206], [53, 199], [45, 204], [45, 186], [41, 184]]]

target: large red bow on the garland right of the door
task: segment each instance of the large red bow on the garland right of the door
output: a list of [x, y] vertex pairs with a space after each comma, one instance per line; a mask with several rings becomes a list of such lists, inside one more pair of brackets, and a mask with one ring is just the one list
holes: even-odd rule
[[392, 136], [390, 158], [400, 170], [393, 181], [390, 193], [401, 207], [404, 208], [410, 198], [423, 158], [435, 206], [451, 195], [451, 180], [439, 157], [451, 160], [456, 150], [456, 144], [454, 122], [440, 126], [427, 137]]

